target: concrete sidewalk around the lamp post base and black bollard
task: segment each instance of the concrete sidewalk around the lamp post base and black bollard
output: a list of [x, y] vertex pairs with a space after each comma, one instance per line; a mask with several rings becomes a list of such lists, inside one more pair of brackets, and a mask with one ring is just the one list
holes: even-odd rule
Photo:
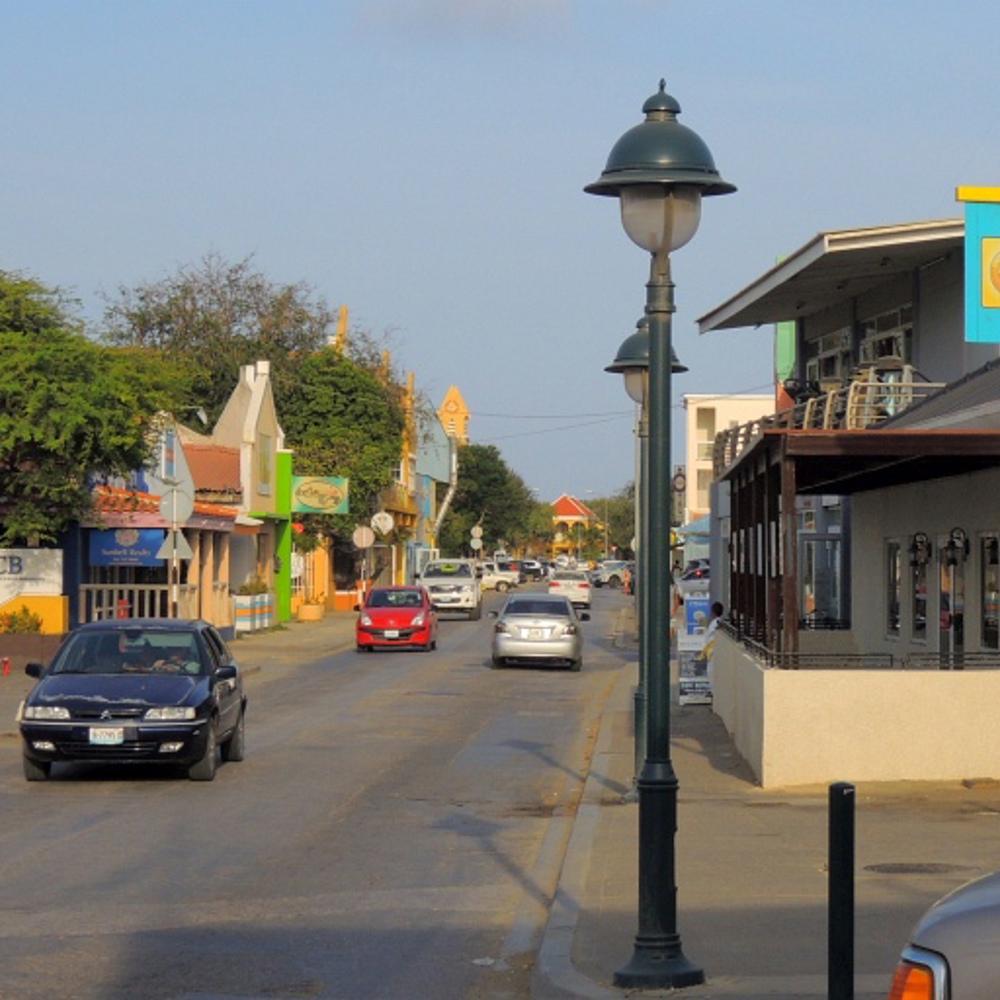
[[[614, 986], [638, 930], [638, 806], [626, 800], [635, 677], [621, 671], [601, 720], [532, 996], [825, 1000], [829, 789], [762, 790], [700, 705], [672, 706], [671, 753], [680, 782], [677, 930], [706, 982], [672, 992]], [[924, 909], [1000, 868], [1000, 788], [858, 784], [855, 797], [855, 997], [884, 1000]]]

